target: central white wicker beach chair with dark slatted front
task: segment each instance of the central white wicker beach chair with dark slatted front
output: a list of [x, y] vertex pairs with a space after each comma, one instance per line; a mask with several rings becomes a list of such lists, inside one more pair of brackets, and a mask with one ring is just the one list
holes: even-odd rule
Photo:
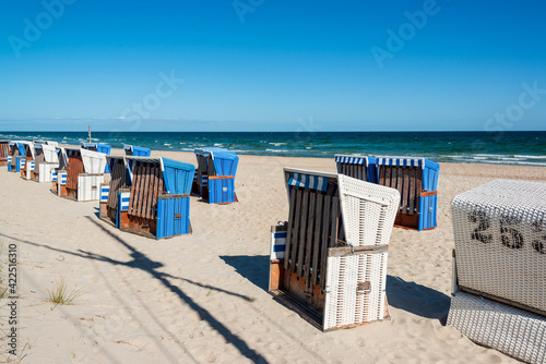
[[343, 174], [284, 169], [286, 223], [272, 227], [269, 290], [328, 331], [389, 317], [389, 240], [400, 194]]

